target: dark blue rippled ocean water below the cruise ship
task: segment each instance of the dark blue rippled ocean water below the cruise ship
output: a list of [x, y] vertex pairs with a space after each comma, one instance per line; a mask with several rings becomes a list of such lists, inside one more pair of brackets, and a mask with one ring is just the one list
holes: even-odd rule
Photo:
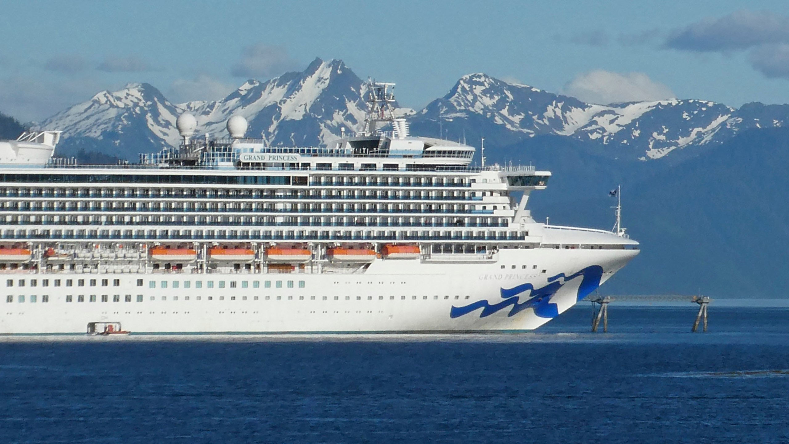
[[789, 442], [789, 310], [535, 333], [0, 337], [0, 443]]

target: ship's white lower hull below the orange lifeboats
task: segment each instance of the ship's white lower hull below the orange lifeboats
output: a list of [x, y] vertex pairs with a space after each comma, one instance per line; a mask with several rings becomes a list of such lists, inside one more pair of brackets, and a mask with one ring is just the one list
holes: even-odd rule
[[[3, 277], [15, 281], [70, 279], [76, 285], [80, 279], [100, 282], [106, 277], [119, 283], [6, 287], [13, 298], [2, 302], [0, 333], [84, 333], [89, 322], [120, 322], [133, 334], [529, 330], [572, 307], [636, 254], [638, 250], [501, 250], [488, 263], [379, 259], [365, 273], [7, 273]], [[198, 280], [202, 288], [195, 288]], [[186, 281], [190, 288], [183, 288]], [[214, 288], [207, 288], [208, 281]], [[255, 281], [259, 288], [253, 288]], [[31, 295], [36, 295], [35, 303]], [[42, 302], [43, 295], [48, 302]], [[72, 302], [66, 302], [67, 295]], [[77, 302], [78, 295], [84, 295], [84, 302]]]

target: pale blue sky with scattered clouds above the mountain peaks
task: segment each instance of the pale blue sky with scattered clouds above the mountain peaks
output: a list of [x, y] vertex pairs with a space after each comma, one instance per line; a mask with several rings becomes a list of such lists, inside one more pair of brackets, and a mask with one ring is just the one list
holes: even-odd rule
[[0, 111], [44, 119], [146, 81], [218, 99], [341, 58], [422, 107], [488, 73], [593, 102], [789, 102], [789, 2], [0, 2]]

